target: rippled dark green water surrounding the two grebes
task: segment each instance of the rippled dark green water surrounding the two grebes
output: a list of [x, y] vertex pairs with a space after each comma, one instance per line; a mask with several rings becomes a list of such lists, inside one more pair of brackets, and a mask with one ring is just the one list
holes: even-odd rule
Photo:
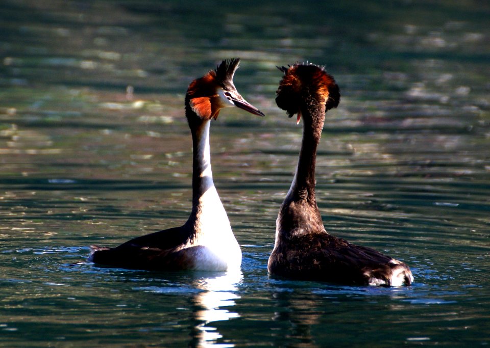
[[[490, 8], [319, 4], [0, 4], [1, 346], [490, 342]], [[235, 85], [267, 115], [227, 109], [211, 128], [241, 273], [85, 262], [90, 244], [185, 221], [183, 96], [235, 56]], [[404, 260], [411, 287], [267, 276], [301, 141], [275, 105], [275, 65], [305, 60], [342, 94], [318, 154], [326, 228]]]

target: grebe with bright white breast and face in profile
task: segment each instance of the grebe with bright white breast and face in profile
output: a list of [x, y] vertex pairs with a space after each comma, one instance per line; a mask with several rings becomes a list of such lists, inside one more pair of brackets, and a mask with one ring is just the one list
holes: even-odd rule
[[116, 248], [91, 246], [89, 260], [138, 270], [227, 271], [240, 268], [241, 250], [214, 187], [209, 151], [211, 119], [228, 106], [264, 116], [233, 85], [239, 59], [224, 60], [192, 81], [185, 96], [185, 116], [192, 133], [192, 211], [181, 227], [129, 240]]

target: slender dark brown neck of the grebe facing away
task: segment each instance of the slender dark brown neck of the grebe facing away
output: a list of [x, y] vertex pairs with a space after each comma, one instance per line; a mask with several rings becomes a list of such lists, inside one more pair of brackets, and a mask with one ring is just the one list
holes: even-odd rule
[[292, 200], [306, 200], [311, 205], [316, 206], [316, 149], [322, 136], [325, 105], [317, 102], [305, 103], [301, 108], [301, 116], [303, 118], [303, 140], [295, 179], [291, 184], [289, 195], [292, 195], [290, 197]]

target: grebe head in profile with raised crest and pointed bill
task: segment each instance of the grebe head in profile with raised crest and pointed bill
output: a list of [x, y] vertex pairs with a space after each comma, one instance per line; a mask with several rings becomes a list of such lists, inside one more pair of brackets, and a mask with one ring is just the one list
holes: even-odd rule
[[224, 60], [215, 70], [190, 83], [185, 98], [186, 106], [201, 120], [216, 119], [219, 110], [230, 106], [236, 106], [254, 115], [265, 116], [243, 99], [233, 84], [233, 75], [239, 63], [239, 58]]

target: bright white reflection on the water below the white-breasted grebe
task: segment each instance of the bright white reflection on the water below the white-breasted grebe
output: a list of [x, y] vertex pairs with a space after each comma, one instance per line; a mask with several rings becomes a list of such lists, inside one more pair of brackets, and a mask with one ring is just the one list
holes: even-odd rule
[[[230, 311], [229, 307], [235, 305], [237, 285], [241, 282], [243, 275], [241, 271], [230, 271], [214, 278], [199, 279], [195, 287], [204, 290], [199, 292], [195, 298], [195, 305], [199, 309], [195, 312], [195, 318], [202, 323], [195, 327], [195, 339], [198, 347], [233, 347], [234, 344], [216, 343], [223, 338], [215, 327], [210, 323], [229, 320], [239, 317], [238, 313]], [[227, 309], [223, 308], [227, 307]]]

